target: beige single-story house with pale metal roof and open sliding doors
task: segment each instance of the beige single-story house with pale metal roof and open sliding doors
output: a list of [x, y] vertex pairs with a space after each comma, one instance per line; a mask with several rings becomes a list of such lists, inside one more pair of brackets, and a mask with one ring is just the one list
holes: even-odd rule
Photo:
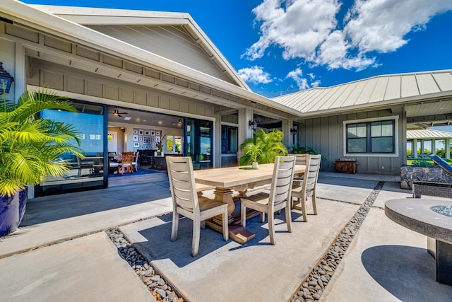
[[[49, 89], [79, 114], [44, 112], [81, 131], [85, 163], [32, 190], [40, 196], [108, 185], [108, 153], [140, 151], [237, 164], [253, 127], [281, 129], [287, 146], [311, 146], [328, 159], [353, 157], [359, 172], [397, 174], [408, 125], [448, 122], [451, 71], [378, 76], [266, 98], [240, 78], [187, 13], [0, 4], [0, 54], [14, 76], [8, 94]], [[378, 134], [376, 134], [378, 132]], [[180, 145], [180, 149], [175, 146]], [[146, 159], [147, 160], [147, 159]]]

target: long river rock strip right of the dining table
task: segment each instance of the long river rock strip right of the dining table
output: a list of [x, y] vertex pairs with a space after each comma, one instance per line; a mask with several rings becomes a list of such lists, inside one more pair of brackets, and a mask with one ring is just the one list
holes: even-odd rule
[[374, 187], [374, 190], [372, 190], [364, 203], [359, 207], [352, 219], [348, 221], [343, 231], [339, 233], [335, 242], [319, 262], [319, 265], [316, 265], [316, 267], [311, 270], [309, 276], [302, 281], [302, 286], [297, 294], [290, 299], [290, 302], [319, 301], [321, 294], [328, 285], [331, 277], [333, 277], [336, 267], [338, 267], [340, 260], [344, 257], [345, 251], [369, 213], [369, 210], [371, 209], [372, 204], [374, 204], [383, 185], [384, 182], [379, 182]]

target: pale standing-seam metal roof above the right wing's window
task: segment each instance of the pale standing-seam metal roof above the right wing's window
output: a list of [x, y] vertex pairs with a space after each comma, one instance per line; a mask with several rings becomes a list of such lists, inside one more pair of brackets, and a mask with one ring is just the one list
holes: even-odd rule
[[415, 103], [452, 96], [452, 70], [374, 76], [272, 98], [305, 116]]

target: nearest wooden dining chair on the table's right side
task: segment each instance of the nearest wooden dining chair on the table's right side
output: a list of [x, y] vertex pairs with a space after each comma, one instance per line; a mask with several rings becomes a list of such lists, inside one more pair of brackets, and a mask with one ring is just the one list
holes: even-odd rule
[[290, 190], [295, 170], [295, 156], [277, 156], [273, 167], [273, 178], [270, 185], [270, 194], [260, 192], [241, 198], [242, 202], [242, 226], [246, 227], [246, 209], [254, 209], [261, 212], [261, 222], [268, 216], [268, 233], [270, 243], [275, 245], [275, 211], [285, 209], [287, 231], [292, 233], [292, 218], [290, 216], [291, 198]]

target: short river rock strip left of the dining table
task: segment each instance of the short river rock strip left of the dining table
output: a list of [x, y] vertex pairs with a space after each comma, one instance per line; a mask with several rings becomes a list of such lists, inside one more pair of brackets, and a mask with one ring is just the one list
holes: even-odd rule
[[150, 262], [146, 261], [136, 248], [133, 248], [131, 243], [124, 238], [123, 233], [117, 228], [112, 228], [105, 233], [116, 245], [121, 257], [129, 263], [141, 281], [148, 286], [155, 300], [162, 302], [186, 301], [181, 294], [174, 290], [173, 286], [167, 284], [167, 281], [155, 271]]

